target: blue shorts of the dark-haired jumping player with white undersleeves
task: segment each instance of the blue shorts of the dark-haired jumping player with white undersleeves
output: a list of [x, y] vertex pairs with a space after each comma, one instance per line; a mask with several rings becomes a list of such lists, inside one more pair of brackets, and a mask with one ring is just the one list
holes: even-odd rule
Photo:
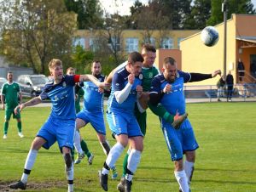
[[134, 114], [124, 111], [107, 112], [107, 121], [111, 131], [116, 134], [127, 134], [128, 137], [143, 136]]

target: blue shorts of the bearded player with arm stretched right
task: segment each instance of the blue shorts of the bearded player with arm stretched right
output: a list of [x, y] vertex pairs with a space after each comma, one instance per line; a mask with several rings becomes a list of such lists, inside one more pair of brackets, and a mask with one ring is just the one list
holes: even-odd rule
[[164, 121], [161, 122], [161, 127], [172, 161], [182, 159], [185, 151], [193, 151], [199, 147], [195, 140], [193, 127], [188, 119], [183, 121], [177, 130], [170, 123]]

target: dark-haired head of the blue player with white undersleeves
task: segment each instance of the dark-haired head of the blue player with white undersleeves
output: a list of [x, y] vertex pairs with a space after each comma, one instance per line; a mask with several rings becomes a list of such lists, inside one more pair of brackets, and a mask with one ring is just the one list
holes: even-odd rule
[[127, 71], [138, 76], [142, 71], [143, 61], [144, 59], [141, 54], [132, 52], [128, 55], [128, 64], [126, 65]]

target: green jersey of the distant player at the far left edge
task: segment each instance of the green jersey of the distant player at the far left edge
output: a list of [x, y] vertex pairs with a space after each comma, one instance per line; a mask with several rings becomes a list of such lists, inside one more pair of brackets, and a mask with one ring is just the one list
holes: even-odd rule
[[20, 86], [16, 82], [6, 82], [3, 84], [1, 94], [4, 95], [7, 108], [15, 108], [18, 104], [18, 93], [20, 93]]

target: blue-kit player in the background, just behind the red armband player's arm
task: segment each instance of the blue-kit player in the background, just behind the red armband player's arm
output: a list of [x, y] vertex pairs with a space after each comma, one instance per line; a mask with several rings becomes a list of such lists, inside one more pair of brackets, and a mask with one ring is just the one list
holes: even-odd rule
[[[104, 82], [105, 76], [102, 76], [102, 65], [100, 61], [96, 60], [91, 65], [91, 73], [100, 82]], [[106, 127], [104, 122], [104, 109], [103, 99], [104, 90], [97, 88], [95, 84], [91, 82], [80, 83], [80, 86], [84, 89], [84, 108], [77, 114], [76, 127], [80, 129], [90, 122], [91, 126], [96, 130], [97, 138], [102, 145], [102, 149], [105, 155], [108, 155], [111, 146], [106, 138]], [[76, 135], [74, 140], [76, 148], [79, 148], [79, 135]], [[93, 156], [92, 156], [93, 157]], [[118, 174], [116, 168], [111, 167], [112, 178], [117, 178]]]

